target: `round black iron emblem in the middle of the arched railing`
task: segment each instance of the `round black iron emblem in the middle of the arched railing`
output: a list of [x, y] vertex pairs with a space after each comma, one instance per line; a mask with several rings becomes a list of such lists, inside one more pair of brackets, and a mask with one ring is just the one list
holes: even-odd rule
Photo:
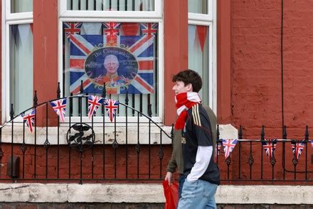
[[86, 151], [95, 144], [95, 132], [88, 124], [76, 123], [68, 129], [66, 139], [71, 148]]

